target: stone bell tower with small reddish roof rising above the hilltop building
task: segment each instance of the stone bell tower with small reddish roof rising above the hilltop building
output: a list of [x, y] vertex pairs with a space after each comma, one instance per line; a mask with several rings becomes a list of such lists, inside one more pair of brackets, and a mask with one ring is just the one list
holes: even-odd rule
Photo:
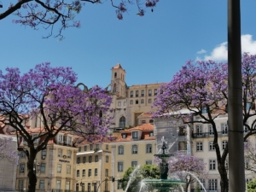
[[117, 96], [126, 97], [125, 69], [118, 63], [111, 70], [111, 92]]

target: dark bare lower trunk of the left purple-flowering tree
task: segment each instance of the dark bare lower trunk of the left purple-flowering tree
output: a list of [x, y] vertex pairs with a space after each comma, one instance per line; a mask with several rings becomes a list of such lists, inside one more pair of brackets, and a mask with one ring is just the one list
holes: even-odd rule
[[[35, 192], [37, 186], [37, 167], [34, 165], [34, 160], [36, 159], [37, 151], [34, 148], [30, 148], [30, 155], [26, 163], [27, 166], [27, 177], [28, 177], [28, 190], [27, 192]], [[35, 167], [34, 167], [35, 166]]]

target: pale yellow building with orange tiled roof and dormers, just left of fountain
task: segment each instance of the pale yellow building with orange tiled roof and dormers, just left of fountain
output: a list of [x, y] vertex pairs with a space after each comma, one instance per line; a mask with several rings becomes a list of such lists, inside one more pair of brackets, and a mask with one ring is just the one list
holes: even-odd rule
[[112, 147], [112, 175], [115, 182], [111, 192], [123, 191], [119, 179], [131, 166], [152, 164], [155, 154], [154, 126], [143, 124], [120, 131], [120, 136], [110, 143]]

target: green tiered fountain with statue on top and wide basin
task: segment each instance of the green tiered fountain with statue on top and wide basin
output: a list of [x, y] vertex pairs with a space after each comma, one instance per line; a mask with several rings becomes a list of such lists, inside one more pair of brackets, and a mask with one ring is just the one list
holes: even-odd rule
[[186, 183], [185, 181], [168, 179], [168, 162], [167, 160], [172, 154], [166, 153], [167, 143], [164, 137], [162, 137], [162, 147], [160, 154], [154, 154], [154, 156], [160, 159], [160, 179], [143, 179], [143, 188], [157, 189], [159, 192], [168, 192], [177, 186]]

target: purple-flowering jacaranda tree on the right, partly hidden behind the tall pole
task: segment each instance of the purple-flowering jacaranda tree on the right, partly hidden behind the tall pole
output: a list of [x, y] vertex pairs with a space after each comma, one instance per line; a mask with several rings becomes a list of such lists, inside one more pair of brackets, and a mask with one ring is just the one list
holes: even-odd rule
[[[242, 99], [243, 99], [243, 124], [247, 131], [244, 139], [255, 134], [255, 88], [256, 88], [256, 55], [242, 56]], [[186, 65], [174, 75], [172, 81], [160, 87], [160, 93], [154, 102], [158, 108], [155, 115], [173, 113], [180, 109], [189, 109], [190, 115], [198, 115], [200, 119], [184, 117], [177, 114], [177, 118], [186, 119], [184, 123], [201, 123], [212, 125], [213, 146], [215, 148], [218, 172], [221, 177], [221, 191], [229, 190], [225, 160], [228, 155], [228, 146], [221, 154], [218, 145], [218, 132], [215, 119], [227, 113], [228, 105], [228, 76], [227, 63], [215, 61], [187, 61]], [[190, 119], [190, 120], [189, 120]], [[250, 122], [250, 123], [249, 123]]]

